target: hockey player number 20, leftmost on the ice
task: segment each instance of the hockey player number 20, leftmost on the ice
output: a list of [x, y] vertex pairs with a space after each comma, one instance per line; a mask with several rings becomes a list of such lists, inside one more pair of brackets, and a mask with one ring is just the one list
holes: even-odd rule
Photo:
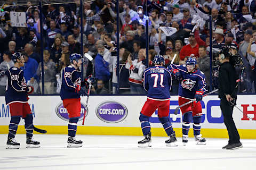
[[9, 124], [9, 134], [6, 149], [19, 149], [20, 143], [14, 138], [20, 122], [20, 117], [25, 120], [27, 134], [27, 148], [38, 148], [40, 142], [33, 139], [33, 115], [28, 104], [27, 95], [33, 92], [33, 87], [27, 86], [23, 71], [25, 57], [21, 53], [12, 55], [14, 66], [5, 72], [7, 75], [7, 85], [5, 90], [5, 102], [10, 107], [11, 121]]

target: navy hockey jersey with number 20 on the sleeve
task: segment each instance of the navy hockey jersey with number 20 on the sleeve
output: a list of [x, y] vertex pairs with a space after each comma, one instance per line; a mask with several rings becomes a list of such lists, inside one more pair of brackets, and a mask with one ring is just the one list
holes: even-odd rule
[[11, 67], [5, 72], [7, 75], [7, 84], [5, 89], [5, 103], [9, 105], [14, 102], [26, 103], [26, 80], [23, 77], [24, 72], [18, 67]]

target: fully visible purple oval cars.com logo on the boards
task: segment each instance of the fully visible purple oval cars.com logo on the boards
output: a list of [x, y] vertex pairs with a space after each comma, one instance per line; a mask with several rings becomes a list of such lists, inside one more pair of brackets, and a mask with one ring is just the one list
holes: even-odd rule
[[117, 101], [104, 101], [96, 108], [96, 115], [101, 121], [117, 123], [126, 118], [127, 108]]

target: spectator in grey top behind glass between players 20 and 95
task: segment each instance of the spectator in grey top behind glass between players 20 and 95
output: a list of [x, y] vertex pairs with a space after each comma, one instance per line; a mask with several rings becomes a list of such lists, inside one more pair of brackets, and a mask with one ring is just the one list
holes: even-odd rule
[[[44, 94], [53, 94], [54, 93], [54, 82], [55, 82], [55, 74], [56, 74], [56, 67], [55, 63], [50, 61], [50, 52], [49, 50], [44, 50]], [[40, 80], [39, 87], [42, 93], [42, 64], [41, 62], [38, 65], [36, 75], [34, 76], [35, 79]], [[34, 78], [31, 78], [31, 81], [34, 81]]]

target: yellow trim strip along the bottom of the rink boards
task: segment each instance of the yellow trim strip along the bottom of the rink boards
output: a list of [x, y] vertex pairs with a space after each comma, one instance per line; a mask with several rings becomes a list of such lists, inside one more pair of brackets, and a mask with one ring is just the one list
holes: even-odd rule
[[[39, 129], [44, 129], [47, 134], [68, 134], [67, 126], [36, 126]], [[181, 128], [174, 128], [177, 137], [182, 137]], [[35, 131], [34, 131], [35, 132]], [[153, 136], [166, 137], [163, 128], [151, 128]], [[238, 129], [241, 139], [256, 139], [256, 130], [254, 129]], [[8, 133], [8, 126], [0, 126], [0, 134]], [[25, 134], [25, 128], [19, 125], [18, 134]], [[228, 138], [226, 129], [201, 129], [201, 133], [205, 138]], [[35, 134], [39, 134], [35, 132]], [[91, 135], [133, 135], [141, 136], [141, 128], [137, 127], [107, 127], [107, 126], [77, 126], [77, 134]], [[193, 130], [189, 131], [189, 137], [193, 137]]]

